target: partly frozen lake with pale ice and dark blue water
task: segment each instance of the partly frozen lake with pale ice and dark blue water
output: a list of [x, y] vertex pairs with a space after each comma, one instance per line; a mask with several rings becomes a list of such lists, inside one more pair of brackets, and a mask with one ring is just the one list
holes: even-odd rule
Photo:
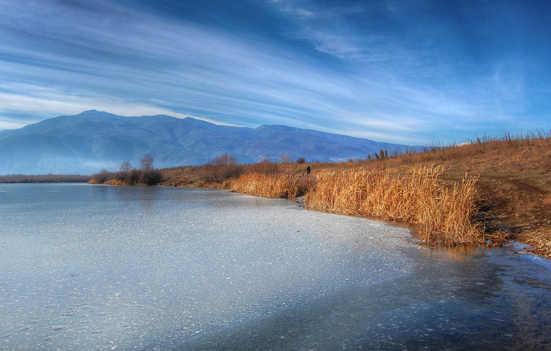
[[551, 350], [551, 264], [212, 189], [0, 184], [0, 350]]

